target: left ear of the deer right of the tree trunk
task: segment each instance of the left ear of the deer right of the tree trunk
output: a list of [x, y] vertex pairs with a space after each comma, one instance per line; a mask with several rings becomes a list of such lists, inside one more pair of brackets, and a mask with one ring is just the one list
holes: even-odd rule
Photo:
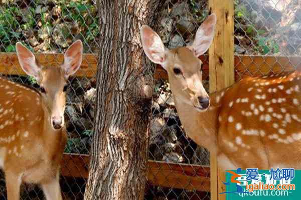
[[143, 25], [140, 29], [143, 50], [147, 57], [164, 67], [166, 60], [165, 47], [160, 36], [149, 26]]

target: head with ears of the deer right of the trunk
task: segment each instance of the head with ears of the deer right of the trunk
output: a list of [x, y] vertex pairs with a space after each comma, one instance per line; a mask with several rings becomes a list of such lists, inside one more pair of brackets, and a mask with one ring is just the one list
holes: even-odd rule
[[140, 30], [143, 50], [153, 62], [168, 72], [169, 82], [176, 101], [205, 111], [210, 104], [209, 95], [202, 84], [202, 61], [214, 37], [216, 15], [211, 14], [200, 25], [192, 45], [168, 49], [160, 36], [149, 26]]

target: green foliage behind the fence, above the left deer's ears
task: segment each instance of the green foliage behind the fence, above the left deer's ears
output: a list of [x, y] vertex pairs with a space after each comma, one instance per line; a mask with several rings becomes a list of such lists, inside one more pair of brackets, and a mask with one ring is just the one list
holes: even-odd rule
[[[55, 4], [47, 3], [35, 0], [21, 7], [20, 3], [6, 1], [0, 6], [0, 51], [15, 52], [17, 41], [29, 43], [32, 37], [37, 39], [31, 45], [46, 41], [45, 45], [37, 47], [38, 51], [45, 51], [46, 45], [59, 49], [57, 45], [60, 42], [53, 34], [58, 24], [66, 27], [57, 28], [66, 41], [70, 42], [76, 37], [82, 39], [86, 47], [95, 45], [92, 42], [98, 36], [99, 20], [96, 7], [90, 0], [56, 0]], [[54, 8], [58, 8], [56, 13]]]

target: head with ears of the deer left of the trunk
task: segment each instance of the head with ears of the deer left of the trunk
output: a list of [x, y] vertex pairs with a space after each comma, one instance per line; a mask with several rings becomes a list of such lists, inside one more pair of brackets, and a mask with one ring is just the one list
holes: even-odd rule
[[66, 50], [60, 66], [40, 65], [35, 55], [20, 42], [17, 42], [16, 50], [22, 69], [35, 77], [41, 87], [41, 101], [47, 122], [53, 129], [60, 129], [64, 125], [67, 80], [81, 65], [82, 42], [77, 40]]

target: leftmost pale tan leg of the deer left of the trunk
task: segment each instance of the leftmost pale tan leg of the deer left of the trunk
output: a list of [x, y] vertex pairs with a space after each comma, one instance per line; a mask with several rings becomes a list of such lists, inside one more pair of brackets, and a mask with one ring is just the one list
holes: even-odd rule
[[8, 200], [20, 200], [21, 175], [5, 171]]

